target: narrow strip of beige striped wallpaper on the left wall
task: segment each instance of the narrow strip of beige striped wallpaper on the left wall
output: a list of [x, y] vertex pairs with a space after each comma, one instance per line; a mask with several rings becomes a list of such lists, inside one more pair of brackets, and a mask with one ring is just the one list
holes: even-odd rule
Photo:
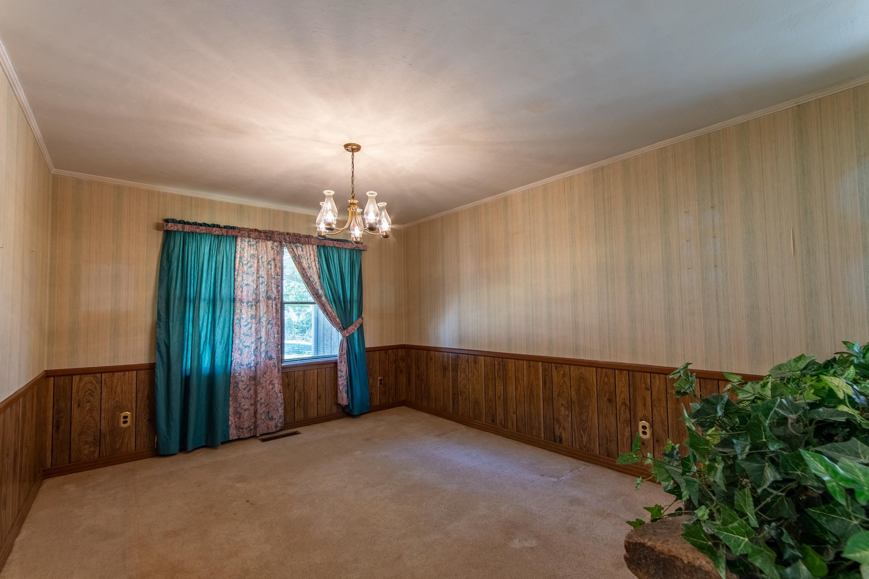
[[0, 73], [0, 400], [45, 369], [51, 175]]

